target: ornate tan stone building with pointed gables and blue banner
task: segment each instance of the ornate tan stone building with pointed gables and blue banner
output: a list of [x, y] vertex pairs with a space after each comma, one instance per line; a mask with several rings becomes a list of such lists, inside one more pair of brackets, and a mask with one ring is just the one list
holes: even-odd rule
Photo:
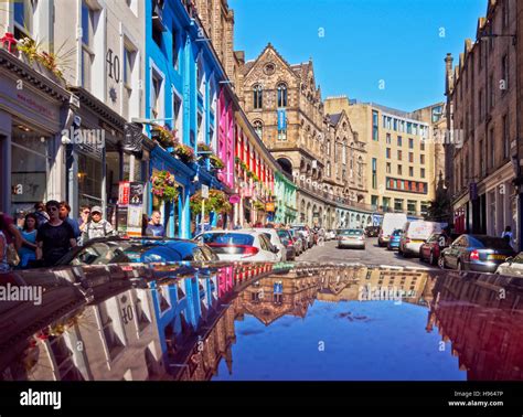
[[[298, 222], [328, 228], [370, 224], [370, 206], [364, 206], [362, 196], [365, 185], [356, 179], [356, 164], [365, 164], [364, 146], [355, 139], [346, 115], [338, 111], [325, 116], [312, 60], [291, 65], [270, 43], [253, 61], [245, 62], [243, 52], [236, 56], [242, 68], [237, 88], [241, 106], [299, 186]], [[356, 175], [352, 182], [351, 162]]]

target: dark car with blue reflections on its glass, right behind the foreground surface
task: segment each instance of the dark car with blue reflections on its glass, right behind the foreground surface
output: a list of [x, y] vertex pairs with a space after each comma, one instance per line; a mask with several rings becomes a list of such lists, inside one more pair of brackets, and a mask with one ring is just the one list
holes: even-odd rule
[[213, 261], [217, 255], [206, 245], [188, 239], [100, 237], [71, 249], [56, 265], [109, 265], [129, 263]]

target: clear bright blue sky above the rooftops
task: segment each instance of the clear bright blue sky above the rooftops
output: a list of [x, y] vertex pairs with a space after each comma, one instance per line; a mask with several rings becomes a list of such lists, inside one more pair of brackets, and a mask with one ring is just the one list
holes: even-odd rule
[[487, 0], [228, 2], [235, 50], [246, 60], [271, 42], [291, 64], [313, 58], [323, 98], [343, 94], [407, 111], [445, 99], [445, 55], [457, 63], [487, 11]]

